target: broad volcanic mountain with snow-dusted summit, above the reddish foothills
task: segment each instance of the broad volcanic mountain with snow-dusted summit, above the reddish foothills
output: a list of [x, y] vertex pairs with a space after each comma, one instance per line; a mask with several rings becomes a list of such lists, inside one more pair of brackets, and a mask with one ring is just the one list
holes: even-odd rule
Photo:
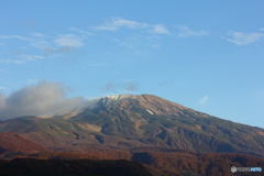
[[165, 147], [264, 157], [264, 130], [222, 120], [152, 95], [108, 96], [48, 119], [0, 122], [0, 131], [24, 134], [54, 151], [84, 152]]

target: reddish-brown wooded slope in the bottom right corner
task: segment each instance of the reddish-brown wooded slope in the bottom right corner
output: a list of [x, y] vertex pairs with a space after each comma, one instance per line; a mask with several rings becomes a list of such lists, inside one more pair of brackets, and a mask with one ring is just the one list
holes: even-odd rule
[[231, 173], [231, 167], [262, 167], [264, 158], [238, 153], [197, 153], [169, 148], [134, 148], [132, 160], [170, 176], [262, 176], [260, 173]]

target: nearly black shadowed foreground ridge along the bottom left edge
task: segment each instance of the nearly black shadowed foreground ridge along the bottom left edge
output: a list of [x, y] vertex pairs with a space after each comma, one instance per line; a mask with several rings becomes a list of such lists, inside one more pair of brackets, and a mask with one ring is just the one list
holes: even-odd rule
[[132, 161], [15, 158], [11, 162], [0, 161], [0, 170], [9, 176], [166, 176]]

